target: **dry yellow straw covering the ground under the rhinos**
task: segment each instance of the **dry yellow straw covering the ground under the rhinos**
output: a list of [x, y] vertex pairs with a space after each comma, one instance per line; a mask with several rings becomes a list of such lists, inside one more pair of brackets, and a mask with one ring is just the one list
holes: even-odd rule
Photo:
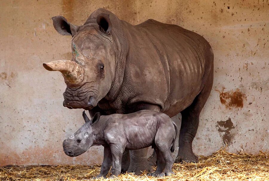
[[[37, 166], [7, 166], [0, 167], [0, 180], [91, 180], [100, 171], [100, 165], [37, 165]], [[174, 164], [174, 176], [147, 177], [122, 174], [115, 180], [269, 180], [269, 154], [261, 152], [259, 155], [246, 153], [233, 154], [219, 150], [210, 157], [201, 157], [199, 163]], [[99, 179], [106, 180], [106, 179]], [[107, 179], [108, 180], [108, 179]]]

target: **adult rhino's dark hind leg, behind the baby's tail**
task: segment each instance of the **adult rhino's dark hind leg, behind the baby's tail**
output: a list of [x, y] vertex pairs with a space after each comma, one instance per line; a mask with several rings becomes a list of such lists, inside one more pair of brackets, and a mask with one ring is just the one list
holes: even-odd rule
[[[213, 65], [212, 65], [213, 66]], [[198, 157], [192, 151], [192, 141], [198, 129], [200, 112], [210, 95], [213, 84], [213, 69], [211, 69], [207, 82], [202, 91], [196, 96], [192, 104], [181, 112], [182, 121], [179, 133], [178, 156], [176, 163], [198, 162]]]

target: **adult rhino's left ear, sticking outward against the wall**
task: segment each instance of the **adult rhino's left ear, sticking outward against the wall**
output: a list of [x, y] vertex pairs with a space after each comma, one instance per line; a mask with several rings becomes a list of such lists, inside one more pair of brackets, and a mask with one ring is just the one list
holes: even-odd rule
[[53, 26], [55, 30], [61, 35], [72, 35], [78, 29], [78, 26], [68, 23], [68, 21], [63, 16], [54, 16], [51, 18], [53, 21]]

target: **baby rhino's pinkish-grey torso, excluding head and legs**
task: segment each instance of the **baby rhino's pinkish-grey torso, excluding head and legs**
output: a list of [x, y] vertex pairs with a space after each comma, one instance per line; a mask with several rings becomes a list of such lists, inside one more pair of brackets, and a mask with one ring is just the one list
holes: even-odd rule
[[106, 133], [110, 138], [113, 134], [113, 142], [125, 144], [129, 150], [154, 145], [159, 126], [173, 128], [173, 123], [167, 115], [149, 110], [127, 115], [114, 114], [110, 121], [110, 129]]

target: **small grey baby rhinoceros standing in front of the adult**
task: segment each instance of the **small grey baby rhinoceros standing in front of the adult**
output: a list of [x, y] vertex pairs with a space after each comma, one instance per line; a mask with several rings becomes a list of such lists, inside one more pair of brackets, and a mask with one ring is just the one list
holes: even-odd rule
[[172, 153], [178, 134], [176, 124], [164, 113], [142, 110], [122, 115], [101, 116], [96, 113], [90, 120], [83, 112], [85, 124], [70, 138], [63, 141], [65, 154], [76, 157], [91, 146], [104, 146], [104, 159], [100, 174], [106, 177], [112, 163], [114, 177], [121, 172], [121, 159], [125, 149], [135, 150], [152, 146], [157, 154], [157, 169], [150, 176], [175, 174]]

